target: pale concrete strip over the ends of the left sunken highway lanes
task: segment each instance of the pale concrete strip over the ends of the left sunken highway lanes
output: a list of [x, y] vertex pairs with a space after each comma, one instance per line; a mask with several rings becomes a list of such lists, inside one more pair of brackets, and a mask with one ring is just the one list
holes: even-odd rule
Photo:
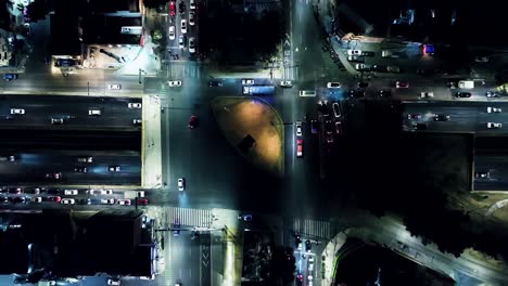
[[162, 187], [161, 101], [143, 95], [141, 130], [141, 186]]

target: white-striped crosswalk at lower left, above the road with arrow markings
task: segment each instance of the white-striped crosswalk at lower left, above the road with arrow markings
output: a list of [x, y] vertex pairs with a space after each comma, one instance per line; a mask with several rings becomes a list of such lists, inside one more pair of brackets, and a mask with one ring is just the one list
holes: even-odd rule
[[178, 221], [181, 225], [209, 227], [213, 222], [212, 209], [166, 207], [165, 214], [169, 225]]

